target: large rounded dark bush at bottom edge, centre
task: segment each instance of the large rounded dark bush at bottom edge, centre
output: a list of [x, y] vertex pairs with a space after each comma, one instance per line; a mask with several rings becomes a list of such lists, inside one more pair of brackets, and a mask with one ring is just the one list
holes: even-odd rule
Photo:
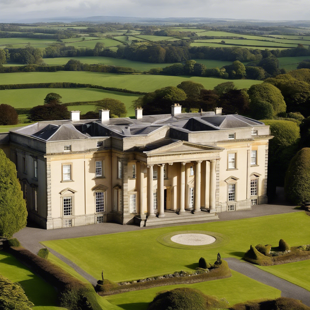
[[208, 296], [199, 290], [179, 287], [174, 290], [157, 293], [149, 304], [148, 310], [207, 310], [227, 308], [227, 303], [215, 296]]

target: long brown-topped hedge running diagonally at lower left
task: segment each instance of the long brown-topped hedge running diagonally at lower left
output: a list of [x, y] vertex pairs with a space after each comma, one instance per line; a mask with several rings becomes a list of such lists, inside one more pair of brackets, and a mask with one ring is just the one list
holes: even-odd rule
[[96, 300], [95, 291], [59, 266], [23, 247], [10, 247], [7, 251], [60, 291], [62, 307], [68, 310], [102, 310]]

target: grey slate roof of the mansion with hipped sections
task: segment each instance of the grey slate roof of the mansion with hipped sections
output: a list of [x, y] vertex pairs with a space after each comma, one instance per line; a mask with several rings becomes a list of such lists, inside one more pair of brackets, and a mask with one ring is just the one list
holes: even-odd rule
[[162, 126], [169, 126], [180, 131], [217, 131], [232, 128], [244, 128], [264, 125], [248, 117], [237, 114], [215, 115], [214, 112], [181, 113], [143, 116], [141, 120], [110, 118], [102, 123], [99, 120], [50, 121], [38, 122], [23, 128], [12, 130], [41, 139], [43, 141], [61, 141], [88, 139], [91, 137], [128, 137], [148, 135]]

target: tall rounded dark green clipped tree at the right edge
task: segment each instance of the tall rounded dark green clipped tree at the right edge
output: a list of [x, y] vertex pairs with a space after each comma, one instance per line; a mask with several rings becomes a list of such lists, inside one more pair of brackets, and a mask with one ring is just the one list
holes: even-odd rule
[[310, 202], [310, 148], [303, 148], [292, 158], [286, 171], [286, 199], [300, 205]]

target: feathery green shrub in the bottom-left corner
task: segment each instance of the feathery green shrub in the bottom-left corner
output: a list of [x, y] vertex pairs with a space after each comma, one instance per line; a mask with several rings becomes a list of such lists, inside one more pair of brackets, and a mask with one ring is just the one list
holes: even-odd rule
[[0, 275], [0, 309], [31, 310], [33, 306], [19, 283], [13, 283]]

